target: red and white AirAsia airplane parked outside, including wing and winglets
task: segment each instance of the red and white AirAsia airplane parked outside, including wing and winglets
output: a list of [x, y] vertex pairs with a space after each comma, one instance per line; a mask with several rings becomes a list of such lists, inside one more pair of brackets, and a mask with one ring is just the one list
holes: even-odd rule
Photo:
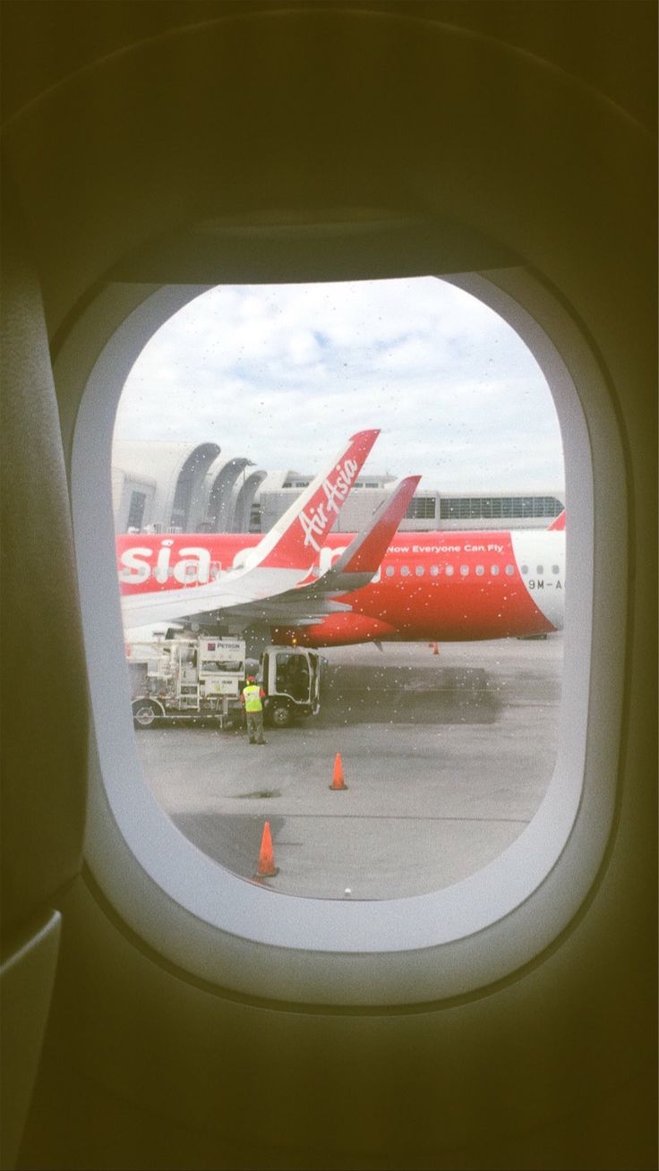
[[198, 622], [301, 646], [561, 630], [564, 513], [544, 530], [400, 532], [420, 479], [407, 477], [362, 533], [330, 533], [378, 434], [352, 436], [262, 537], [118, 536], [126, 630]]

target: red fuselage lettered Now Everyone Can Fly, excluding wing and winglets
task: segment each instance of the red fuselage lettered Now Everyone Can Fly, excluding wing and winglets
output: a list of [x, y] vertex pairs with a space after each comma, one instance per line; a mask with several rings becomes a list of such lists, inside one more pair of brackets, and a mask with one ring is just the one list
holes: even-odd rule
[[[320, 554], [320, 573], [351, 539], [348, 533], [330, 534]], [[380, 639], [462, 642], [560, 630], [564, 539], [564, 532], [549, 529], [398, 532], [370, 584], [335, 597], [350, 611], [304, 625], [284, 619], [272, 626], [272, 641], [304, 646]], [[122, 594], [171, 590], [180, 598], [181, 590], [193, 591], [239, 566], [260, 540], [246, 533], [118, 536]]]

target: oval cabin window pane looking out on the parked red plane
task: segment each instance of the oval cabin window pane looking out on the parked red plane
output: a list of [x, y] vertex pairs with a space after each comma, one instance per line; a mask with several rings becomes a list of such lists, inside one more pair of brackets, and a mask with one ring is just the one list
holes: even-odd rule
[[[301, 507], [318, 473], [322, 508]], [[562, 591], [537, 587], [549, 564], [564, 584], [548, 530], [563, 479], [530, 350], [446, 281], [221, 286], [166, 321], [125, 382], [112, 492], [128, 660], [177, 665], [135, 671], [117, 701], [183, 835], [253, 882], [269, 822], [261, 884], [324, 899], [451, 888], [497, 858], [558, 742]], [[279, 559], [287, 526], [303, 539]], [[140, 618], [153, 600], [159, 635]], [[199, 672], [171, 655], [184, 639]], [[246, 734], [247, 673], [265, 745]]]

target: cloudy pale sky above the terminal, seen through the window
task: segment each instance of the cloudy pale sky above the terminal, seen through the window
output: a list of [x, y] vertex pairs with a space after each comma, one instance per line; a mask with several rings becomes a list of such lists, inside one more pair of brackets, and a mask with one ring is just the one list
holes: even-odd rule
[[434, 278], [224, 286], [171, 317], [119, 404], [122, 439], [215, 441], [315, 474], [362, 427], [365, 470], [444, 493], [561, 488], [556, 411], [530, 351]]

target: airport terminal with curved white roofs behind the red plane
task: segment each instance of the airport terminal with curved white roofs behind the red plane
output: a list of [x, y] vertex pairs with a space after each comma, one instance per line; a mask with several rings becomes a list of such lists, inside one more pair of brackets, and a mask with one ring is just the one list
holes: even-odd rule
[[[267, 533], [311, 482], [294, 470], [267, 472], [217, 443], [116, 440], [112, 504], [117, 533]], [[335, 526], [359, 530], [396, 477], [361, 475]], [[564, 508], [563, 488], [545, 492], [440, 492], [423, 488], [400, 528], [545, 528]]]

